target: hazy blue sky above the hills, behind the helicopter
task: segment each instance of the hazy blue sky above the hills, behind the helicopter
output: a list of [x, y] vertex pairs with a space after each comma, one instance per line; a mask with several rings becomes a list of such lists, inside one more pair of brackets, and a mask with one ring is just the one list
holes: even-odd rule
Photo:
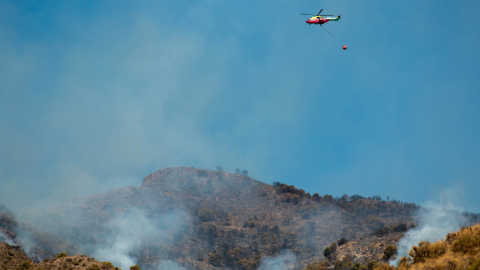
[[[323, 8], [341, 14], [305, 23]], [[1, 1], [0, 204], [172, 166], [480, 211], [478, 1]], [[348, 46], [347, 51], [341, 47]]]

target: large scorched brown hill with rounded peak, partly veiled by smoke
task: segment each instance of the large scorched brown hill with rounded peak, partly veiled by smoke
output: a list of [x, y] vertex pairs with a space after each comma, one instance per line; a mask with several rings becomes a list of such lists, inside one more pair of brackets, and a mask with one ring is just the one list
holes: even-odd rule
[[378, 196], [311, 195], [242, 174], [182, 167], [150, 174], [141, 186], [69, 202], [35, 229], [13, 224], [4, 231], [29, 231], [34, 244], [26, 251], [39, 260], [67, 251], [112, 258], [123, 269], [165, 262], [186, 269], [256, 269], [287, 251], [294, 268], [303, 269], [342, 238], [358, 251], [355, 261], [378, 260], [385, 245], [414, 226], [417, 209]]

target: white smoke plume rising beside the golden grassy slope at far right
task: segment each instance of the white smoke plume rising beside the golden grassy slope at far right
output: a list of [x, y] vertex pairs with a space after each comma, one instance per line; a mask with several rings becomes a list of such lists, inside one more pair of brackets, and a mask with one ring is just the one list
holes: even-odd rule
[[459, 230], [463, 225], [462, 211], [448, 205], [427, 203], [417, 215], [418, 226], [410, 229], [397, 245], [398, 256], [390, 261], [391, 265], [398, 265], [402, 257], [408, 257], [413, 246], [420, 241], [437, 242], [444, 239], [450, 232]]

